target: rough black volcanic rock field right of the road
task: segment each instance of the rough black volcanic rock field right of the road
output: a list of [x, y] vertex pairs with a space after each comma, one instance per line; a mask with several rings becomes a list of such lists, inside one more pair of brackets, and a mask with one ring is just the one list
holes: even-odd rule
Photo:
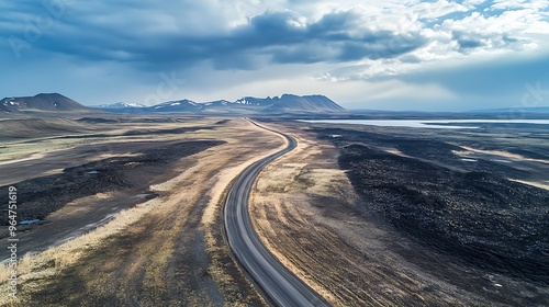
[[459, 159], [444, 141], [321, 133], [340, 149], [339, 164], [363, 201], [359, 211], [479, 268], [549, 285], [549, 192], [506, 179], [524, 171], [490, 161], [471, 170], [449, 167]]

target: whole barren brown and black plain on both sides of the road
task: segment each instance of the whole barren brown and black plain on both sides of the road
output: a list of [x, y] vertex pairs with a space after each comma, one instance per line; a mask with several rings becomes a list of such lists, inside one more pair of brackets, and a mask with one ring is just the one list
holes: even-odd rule
[[[298, 148], [260, 173], [251, 219], [334, 306], [548, 304], [545, 132], [261, 125]], [[222, 205], [280, 136], [177, 115], [0, 126], [0, 191], [16, 186], [20, 219], [40, 219], [18, 226], [18, 298], [0, 305], [267, 305], [231, 255]]]

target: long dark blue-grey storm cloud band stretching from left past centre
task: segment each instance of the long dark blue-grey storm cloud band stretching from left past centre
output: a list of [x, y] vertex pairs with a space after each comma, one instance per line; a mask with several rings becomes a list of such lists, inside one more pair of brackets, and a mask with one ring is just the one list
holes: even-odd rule
[[[254, 69], [269, 62], [391, 58], [426, 43], [417, 33], [396, 35], [370, 30], [372, 26], [363, 24], [352, 11], [328, 13], [314, 22], [305, 22], [291, 11], [266, 11], [248, 18], [243, 25], [225, 30], [201, 31], [202, 25], [195, 24], [197, 31], [188, 27], [152, 31], [155, 24], [146, 22], [143, 10], [124, 8], [133, 12], [127, 20], [116, 20], [120, 14], [91, 18], [87, 15], [89, 12], [67, 13], [54, 20], [55, 24], [43, 31], [32, 47], [91, 61], [135, 62], [147, 69], [201, 61], [211, 61], [219, 69]], [[31, 15], [37, 11], [29, 9]], [[24, 32], [22, 27], [4, 30], [3, 34], [24, 41]]]

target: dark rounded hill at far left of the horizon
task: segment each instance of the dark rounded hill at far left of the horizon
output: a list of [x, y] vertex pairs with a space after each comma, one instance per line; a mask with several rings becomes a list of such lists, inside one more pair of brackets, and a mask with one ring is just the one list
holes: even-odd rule
[[93, 112], [93, 110], [58, 93], [42, 93], [35, 96], [4, 98], [0, 112]]

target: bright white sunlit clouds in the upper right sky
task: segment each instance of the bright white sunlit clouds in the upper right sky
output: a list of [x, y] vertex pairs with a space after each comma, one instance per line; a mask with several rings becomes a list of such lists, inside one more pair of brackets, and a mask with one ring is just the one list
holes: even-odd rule
[[[500, 1], [495, 7], [512, 5], [518, 9], [495, 15], [472, 11], [461, 19], [453, 16], [441, 21], [440, 25], [434, 27], [427, 27], [417, 22], [421, 19], [434, 19], [450, 12], [467, 12], [483, 2], [485, 1], [467, 1], [461, 5], [455, 2], [437, 1], [435, 3], [416, 2], [406, 8], [390, 7], [388, 12], [396, 13], [402, 10], [401, 15], [393, 16], [394, 20], [401, 21], [404, 18], [406, 21], [400, 24], [408, 23], [413, 24], [412, 27], [419, 27], [419, 33], [428, 39], [428, 43], [403, 55], [403, 60], [369, 60], [332, 69], [328, 71], [330, 79], [372, 79], [399, 76], [418, 70], [425, 62], [444, 64], [448, 60], [483, 58], [505, 53], [520, 57], [535, 48], [547, 48], [545, 42], [549, 38], [549, 22], [540, 9], [547, 8], [546, 4], [549, 1]], [[385, 18], [390, 20], [391, 14], [386, 14], [388, 12], [385, 12]], [[391, 27], [388, 26], [388, 29]], [[410, 62], [407, 60], [410, 58], [419, 62]]]

